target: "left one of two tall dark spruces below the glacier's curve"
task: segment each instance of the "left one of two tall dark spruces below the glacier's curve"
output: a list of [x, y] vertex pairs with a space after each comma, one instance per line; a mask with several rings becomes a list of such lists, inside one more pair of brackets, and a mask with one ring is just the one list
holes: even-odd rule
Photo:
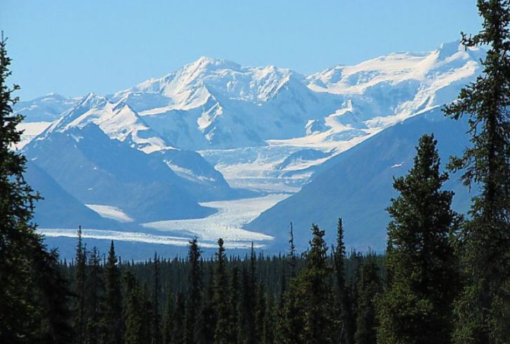
[[198, 241], [194, 237], [190, 241], [190, 250], [187, 255], [188, 264], [190, 265], [185, 319], [185, 341], [187, 344], [192, 344], [195, 341], [196, 321], [201, 306], [203, 282], [200, 256]]

